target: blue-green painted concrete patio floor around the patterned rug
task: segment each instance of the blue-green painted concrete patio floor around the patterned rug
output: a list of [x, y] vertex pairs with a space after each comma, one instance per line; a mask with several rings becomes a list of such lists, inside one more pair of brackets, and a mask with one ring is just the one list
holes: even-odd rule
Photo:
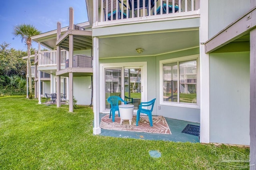
[[[100, 114], [100, 119], [106, 114]], [[161, 141], [174, 141], [174, 142], [191, 142], [198, 143], [200, 140], [198, 136], [189, 135], [182, 133], [182, 130], [187, 124], [200, 125], [199, 123], [182, 121], [177, 119], [166, 118], [166, 121], [172, 132], [171, 135], [158, 134], [158, 133], [144, 133], [144, 132], [130, 132], [130, 131], [115, 131], [101, 129], [99, 135], [110, 136], [110, 137], [123, 137], [123, 138], [133, 138], [133, 139], [145, 139], [145, 140], [161, 140]]]

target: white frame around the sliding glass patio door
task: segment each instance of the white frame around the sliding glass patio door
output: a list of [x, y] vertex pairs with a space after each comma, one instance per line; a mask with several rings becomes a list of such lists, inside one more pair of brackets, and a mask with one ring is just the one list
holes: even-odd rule
[[[124, 79], [124, 72], [123, 70], [126, 68], [134, 68], [134, 67], [141, 67], [141, 102], [147, 101], [148, 95], [148, 88], [147, 88], [147, 62], [126, 62], [126, 63], [102, 63], [100, 64], [100, 92], [102, 95], [100, 96], [100, 113], [109, 113], [109, 110], [104, 110], [105, 108], [105, 69], [106, 68], [122, 68], [122, 77]], [[124, 82], [124, 80], [122, 80]], [[122, 89], [122, 93], [124, 93], [124, 89]]]

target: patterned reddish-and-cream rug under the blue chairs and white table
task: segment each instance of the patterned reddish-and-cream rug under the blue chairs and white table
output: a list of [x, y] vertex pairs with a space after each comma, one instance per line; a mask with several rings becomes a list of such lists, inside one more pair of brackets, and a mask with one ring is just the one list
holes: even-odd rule
[[120, 117], [116, 114], [115, 121], [112, 122], [112, 117], [109, 115], [102, 117], [100, 121], [100, 127], [102, 129], [116, 130], [116, 131], [134, 131], [134, 132], [146, 132], [146, 133], [160, 133], [160, 134], [172, 134], [170, 128], [163, 116], [152, 116], [153, 126], [150, 126], [148, 116], [140, 116], [138, 126], [136, 126], [136, 115], [132, 117], [132, 124], [129, 125], [129, 120], [124, 120], [120, 125]]

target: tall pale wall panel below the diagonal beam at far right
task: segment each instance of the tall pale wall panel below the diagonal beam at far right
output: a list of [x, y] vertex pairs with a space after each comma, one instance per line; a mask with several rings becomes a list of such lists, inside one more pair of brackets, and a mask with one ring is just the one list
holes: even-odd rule
[[210, 54], [210, 142], [250, 145], [250, 53]]

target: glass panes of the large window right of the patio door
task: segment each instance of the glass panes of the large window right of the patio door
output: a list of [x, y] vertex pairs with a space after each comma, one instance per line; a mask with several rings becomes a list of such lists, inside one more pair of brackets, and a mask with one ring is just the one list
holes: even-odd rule
[[197, 60], [164, 63], [163, 102], [197, 104]]

